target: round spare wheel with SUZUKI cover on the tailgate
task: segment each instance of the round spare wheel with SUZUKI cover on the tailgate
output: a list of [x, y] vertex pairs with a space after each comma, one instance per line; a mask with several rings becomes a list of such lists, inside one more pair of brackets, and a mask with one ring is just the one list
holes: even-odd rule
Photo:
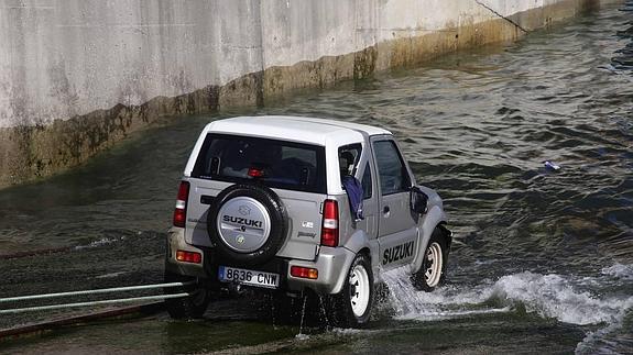
[[263, 264], [281, 248], [288, 218], [279, 196], [261, 185], [232, 185], [207, 214], [207, 230], [218, 256], [240, 265]]

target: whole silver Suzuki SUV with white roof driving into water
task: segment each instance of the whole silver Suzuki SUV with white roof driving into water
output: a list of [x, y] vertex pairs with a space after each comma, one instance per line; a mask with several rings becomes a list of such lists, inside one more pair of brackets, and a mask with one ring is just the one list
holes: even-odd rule
[[342, 326], [369, 321], [380, 271], [408, 267], [430, 291], [451, 233], [439, 196], [417, 186], [393, 135], [302, 117], [209, 123], [182, 179], [167, 237], [174, 318], [197, 318], [231, 287], [325, 296]]

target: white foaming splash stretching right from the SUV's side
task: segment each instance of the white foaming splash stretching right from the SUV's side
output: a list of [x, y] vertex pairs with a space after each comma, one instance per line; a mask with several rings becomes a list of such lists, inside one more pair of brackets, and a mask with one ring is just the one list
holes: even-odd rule
[[560, 275], [526, 271], [476, 287], [441, 287], [430, 293], [417, 291], [405, 269], [388, 271], [383, 278], [397, 319], [438, 320], [504, 312], [523, 306], [527, 312], [566, 323], [615, 324], [633, 307], [633, 296], [600, 298]]

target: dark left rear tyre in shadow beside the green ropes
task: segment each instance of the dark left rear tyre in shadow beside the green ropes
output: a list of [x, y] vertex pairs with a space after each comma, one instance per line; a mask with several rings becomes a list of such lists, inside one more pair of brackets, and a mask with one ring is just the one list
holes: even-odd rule
[[[189, 282], [196, 281], [195, 277], [187, 277], [165, 270], [164, 281], [166, 282]], [[173, 319], [199, 319], [203, 318], [211, 301], [211, 292], [200, 282], [190, 287], [170, 287], [164, 289], [165, 295], [189, 292], [189, 297], [173, 298], [165, 300], [167, 313]]]

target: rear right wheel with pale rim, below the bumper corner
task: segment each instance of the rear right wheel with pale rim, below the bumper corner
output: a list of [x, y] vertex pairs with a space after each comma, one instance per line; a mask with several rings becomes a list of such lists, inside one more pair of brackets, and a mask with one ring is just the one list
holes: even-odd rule
[[349, 268], [342, 290], [332, 297], [334, 323], [342, 328], [362, 328], [369, 323], [374, 303], [371, 263], [358, 254]]

